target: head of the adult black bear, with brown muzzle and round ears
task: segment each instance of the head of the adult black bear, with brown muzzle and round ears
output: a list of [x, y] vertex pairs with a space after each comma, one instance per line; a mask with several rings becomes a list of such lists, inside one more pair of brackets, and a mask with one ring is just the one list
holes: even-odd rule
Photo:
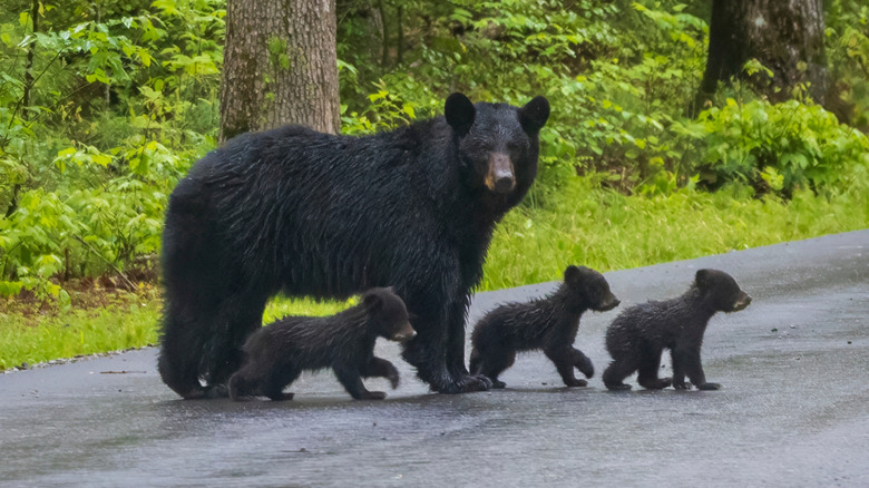
[[537, 175], [538, 134], [549, 118], [549, 101], [538, 96], [521, 108], [473, 105], [457, 92], [447, 98], [443, 111], [470, 186], [507, 197], [509, 205], [518, 203]]

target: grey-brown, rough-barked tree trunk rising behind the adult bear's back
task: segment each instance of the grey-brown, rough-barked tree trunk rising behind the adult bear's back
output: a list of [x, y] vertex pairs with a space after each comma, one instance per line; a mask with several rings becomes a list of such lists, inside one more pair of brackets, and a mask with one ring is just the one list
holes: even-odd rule
[[335, 0], [228, 0], [221, 141], [284, 124], [341, 129]]

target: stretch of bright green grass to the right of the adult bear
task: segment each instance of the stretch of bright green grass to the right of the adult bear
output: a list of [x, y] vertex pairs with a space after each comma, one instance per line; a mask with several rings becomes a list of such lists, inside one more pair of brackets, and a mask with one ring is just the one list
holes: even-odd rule
[[866, 192], [790, 202], [740, 188], [625, 196], [574, 178], [545, 207], [523, 206], [496, 231], [481, 290], [560, 280], [568, 264], [601, 272], [869, 227]]

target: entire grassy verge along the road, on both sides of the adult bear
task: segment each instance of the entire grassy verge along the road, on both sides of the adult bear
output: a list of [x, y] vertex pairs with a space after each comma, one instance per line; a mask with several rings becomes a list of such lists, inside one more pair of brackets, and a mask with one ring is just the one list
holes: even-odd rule
[[[545, 206], [511, 212], [488, 255], [484, 290], [558, 280], [567, 264], [599, 271], [719, 254], [784, 241], [869, 227], [869, 195], [828, 197], [798, 193], [790, 202], [752, 199], [739, 189], [707, 194], [625, 196], [576, 178]], [[0, 370], [58, 358], [154, 344], [158, 340], [159, 290], [135, 293], [82, 287], [69, 311], [0, 301]], [[277, 299], [270, 322], [287, 313], [328, 314], [346, 306]]]

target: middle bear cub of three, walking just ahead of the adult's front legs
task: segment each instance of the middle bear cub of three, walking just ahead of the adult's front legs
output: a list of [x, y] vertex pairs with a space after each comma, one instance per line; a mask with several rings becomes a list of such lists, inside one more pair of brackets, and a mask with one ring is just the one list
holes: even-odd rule
[[512, 365], [516, 352], [541, 349], [555, 363], [566, 385], [585, 387], [588, 382], [577, 380], [574, 368], [592, 378], [594, 367], [573, 347], [579, 318], [588, 309], [603, 312], [618, 303], [601, 273], [584, 266], [568, 266], [564, 271], [564, 283], [551, 295], [528, 303], [501, 305], [477, 322], [471, 333], [470, 371], [488, 377], [494, 388], [504, 388], [498, 375]]

